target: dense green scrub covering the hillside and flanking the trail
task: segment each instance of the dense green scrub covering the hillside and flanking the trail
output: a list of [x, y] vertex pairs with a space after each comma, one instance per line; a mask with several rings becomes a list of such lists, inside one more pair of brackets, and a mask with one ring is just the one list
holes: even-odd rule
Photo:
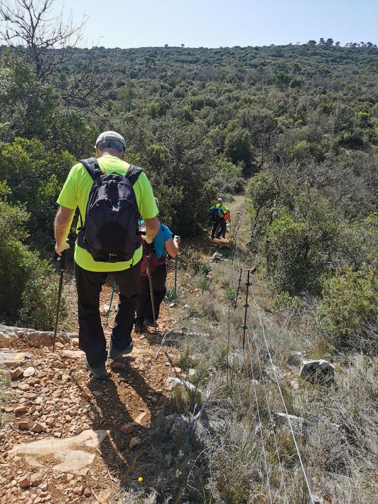
[[[201, 233], [213, 199], [242, 193], [248, 178], [249, 247], [275, 296], [272, 309], [299, 310], [310, 296], [319, 330], [336, 348], [356, 337], [370, 348], [377, 55], [370, 42], [340, 47], [332, 39], [218, 49], [94, 47], [75, 49], [42, 79], [3, 46], [0, 254], [10, 258], [17, 247], [19, 257], [2, 261], [2, 285], [17, 283], [15, 299], [2, 298], [3, 317], [17, 318], [23, 308], [30, 319], [22, 301], [25, 256], [37, 263], [50, 257], [60, 187], [70, 167], [93, 153], [96, 135], [114, 129], [127, 141], [127, 159], [145, 168], [162, 221], [181, 236]], [[17, 214], [14, 232], [10, 213]]]

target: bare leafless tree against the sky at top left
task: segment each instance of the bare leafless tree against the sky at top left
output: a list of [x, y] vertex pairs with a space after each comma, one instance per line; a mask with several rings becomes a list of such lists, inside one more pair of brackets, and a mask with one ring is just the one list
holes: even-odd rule
[[87, 21], [73, 24], [72, 13], [64, 18], [63, 9], [51, 14], [55, 0], [13, 0], [0, 3], [0, 38], [6, 45], [35, 66], [45, 81], [58, 65], [70, 61], [74, 48], [83, 38]]

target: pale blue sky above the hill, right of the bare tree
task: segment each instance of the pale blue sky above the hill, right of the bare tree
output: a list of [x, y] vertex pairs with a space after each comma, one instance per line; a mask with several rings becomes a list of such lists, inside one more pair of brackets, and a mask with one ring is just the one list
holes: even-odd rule
[[[56, 7], [62, 5], [56, 0]], [[378, 44], [378, 0], [65, 0], [85, 43], [111, 47], [232, 47], [332, 38]], [[111, 6], [112, 12], [107, 11]], [[101, 37], [101, 38], [100, 38]]]

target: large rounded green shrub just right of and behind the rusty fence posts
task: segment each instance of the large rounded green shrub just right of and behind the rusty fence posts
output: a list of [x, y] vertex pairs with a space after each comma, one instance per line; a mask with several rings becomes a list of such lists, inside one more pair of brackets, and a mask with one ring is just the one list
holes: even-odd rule
[[266, 233], [267, 273], [277, 290], [320, 293], [321, 276], [337, 253], [340, 215], [317, 191], [296, 195]]

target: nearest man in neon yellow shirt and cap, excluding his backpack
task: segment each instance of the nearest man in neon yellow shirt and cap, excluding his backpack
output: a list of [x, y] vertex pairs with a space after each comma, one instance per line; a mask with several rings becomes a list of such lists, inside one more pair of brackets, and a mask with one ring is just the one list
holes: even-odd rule
[[[99, 135], [95, 151], [98, 164], [103, 173], [127, 173], [130, 165], [124, 161], [126, 143], [121, 135], [109, 131]], [[55, 217], [55, 251], [60, 256], [69, 248], [66, 243], [75, 210], [85, 216], [93, 179], [82, 163], [71, 169], [60, 192], [57, 203], [60, 205]], [[141, 173], [133, 185], [139, 213], [145, 226], [145, 240], [152, 243], [159, 231], [158, 209], [151, 184]], [[76, 232], [79, 232], [78, 223]], [[133, 350], [131, 332], [134, 325], [135, 307], [140, 292], [142, 245], [135, 251], [130, 261], [104, 263], [94, 261], [92, 255], [78, 243], [75, 245], [75, 277], [78, 291], [79, 348], [87, 357], [86, 369], [96, 379], [108, 376], [105, 361], [109, 357], [119, 360], [122, 355]], [[109, 351], [101, 325], [99, 312], [100, 292], [108, 274], [118, 284], [119, 302], [114, 327], [111, 333]]]

